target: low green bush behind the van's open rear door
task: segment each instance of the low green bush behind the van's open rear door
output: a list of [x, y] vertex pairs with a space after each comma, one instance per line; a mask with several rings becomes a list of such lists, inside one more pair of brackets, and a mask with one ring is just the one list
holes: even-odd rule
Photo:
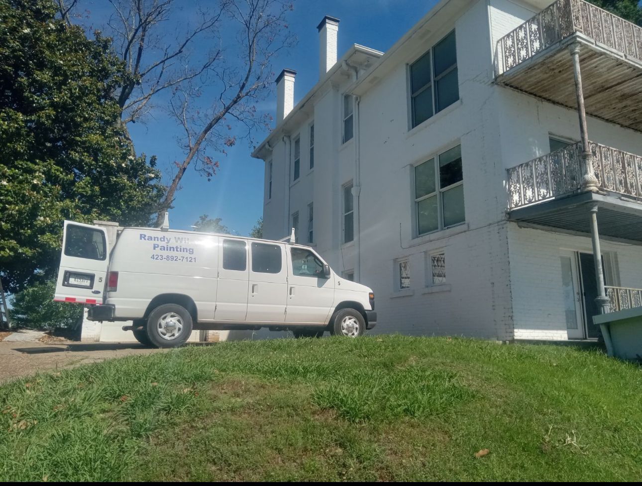
[[11, 318], [19, 327], [73, 329], [82, 322], [83, 306], [53, 302], [56, 281], [33, 284], [12, 297]]

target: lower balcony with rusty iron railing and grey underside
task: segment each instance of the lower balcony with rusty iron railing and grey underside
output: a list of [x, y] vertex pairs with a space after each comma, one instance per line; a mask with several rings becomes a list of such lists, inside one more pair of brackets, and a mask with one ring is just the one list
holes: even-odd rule
[[[508, 219], [590, 233], [588, 203], [600, 206], [600, 233], [642, 241], [642, 157], [590, 142], [596, 191], [582, 186], [576, 143], [508, 169]], [[584, 210], [583, 210], [584, 209]]]

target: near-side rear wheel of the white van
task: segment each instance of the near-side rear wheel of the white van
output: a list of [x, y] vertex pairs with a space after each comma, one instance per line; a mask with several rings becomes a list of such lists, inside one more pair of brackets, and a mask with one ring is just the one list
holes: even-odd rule
[[192, 317], [186, 308], [178, 304], [162, 304], [147, 318], [147, 334], [154, 346], [181, 346], [191, 333]]

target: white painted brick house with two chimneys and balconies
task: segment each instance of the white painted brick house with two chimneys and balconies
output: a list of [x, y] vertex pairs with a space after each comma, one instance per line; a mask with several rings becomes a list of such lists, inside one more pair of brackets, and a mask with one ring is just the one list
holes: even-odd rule
[[442, 0], [338, 60], [325, 17], [317, 85], [294, 106], [277, 79], [265, 238], [295, 227], [372, 287], [376, 332], [594, 338], [591, 315], [642, 305], [642, 29], [549, 4]]

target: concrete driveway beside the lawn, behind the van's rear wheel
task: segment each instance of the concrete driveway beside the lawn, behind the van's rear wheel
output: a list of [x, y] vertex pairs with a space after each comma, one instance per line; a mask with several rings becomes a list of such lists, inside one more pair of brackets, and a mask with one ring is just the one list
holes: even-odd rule
[[40, 371], [71, 368], [110, 358], [164, 352], [140, 344], [0, 342], [0, 383]]

